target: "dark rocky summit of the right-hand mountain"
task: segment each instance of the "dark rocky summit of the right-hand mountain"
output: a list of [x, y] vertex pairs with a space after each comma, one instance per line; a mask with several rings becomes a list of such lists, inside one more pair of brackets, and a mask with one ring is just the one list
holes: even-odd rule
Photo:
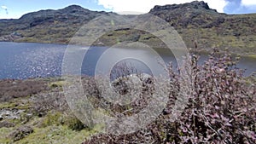
[[219, 14], [215, 9], [210, 9], [208, 4], [201, 1], [192, 3], [154, 6], [150, 14], [170, 22], [172, 26], [219, 26], [224, 22], [226, 14]]

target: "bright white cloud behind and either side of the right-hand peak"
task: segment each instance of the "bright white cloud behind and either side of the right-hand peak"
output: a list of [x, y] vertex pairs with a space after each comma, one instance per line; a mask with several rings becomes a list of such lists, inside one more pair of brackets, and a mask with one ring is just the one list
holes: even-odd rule
[[[154, 8], [154, 5], [189, 3], [192, 1], [194, 0], [98, 0], [98, 4], [117, 13], [124, 11], [148, 13], [150, 9]], [[221, 13], [224, 12], [224, 7], [227, 4], [225, 0], [204, 1], [209, 4], [210, 8], [217, 9]]]

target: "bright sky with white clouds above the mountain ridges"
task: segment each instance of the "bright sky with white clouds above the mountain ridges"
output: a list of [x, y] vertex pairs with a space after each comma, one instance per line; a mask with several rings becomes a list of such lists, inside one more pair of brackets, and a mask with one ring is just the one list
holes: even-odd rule
[[[189, 3], [194, 0], [0, 0], [0, 19], [18, 19], [41, 9], [63, 9], [78, 4], [85, 9], [119, 14], [147, 13], [154, 5]], [[256, 0], [204, 0], [212, 9], [226, 14], [256, 13]]]

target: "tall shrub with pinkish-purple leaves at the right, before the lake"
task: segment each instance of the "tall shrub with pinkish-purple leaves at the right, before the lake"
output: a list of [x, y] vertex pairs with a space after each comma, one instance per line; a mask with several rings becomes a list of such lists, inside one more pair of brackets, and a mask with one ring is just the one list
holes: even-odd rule
[[255, 85], [246, 85], [230, 55], [212, 53], [202, 66], [193, 58], [195, 86], [177, 122], [180, 141], [255, 143]]

